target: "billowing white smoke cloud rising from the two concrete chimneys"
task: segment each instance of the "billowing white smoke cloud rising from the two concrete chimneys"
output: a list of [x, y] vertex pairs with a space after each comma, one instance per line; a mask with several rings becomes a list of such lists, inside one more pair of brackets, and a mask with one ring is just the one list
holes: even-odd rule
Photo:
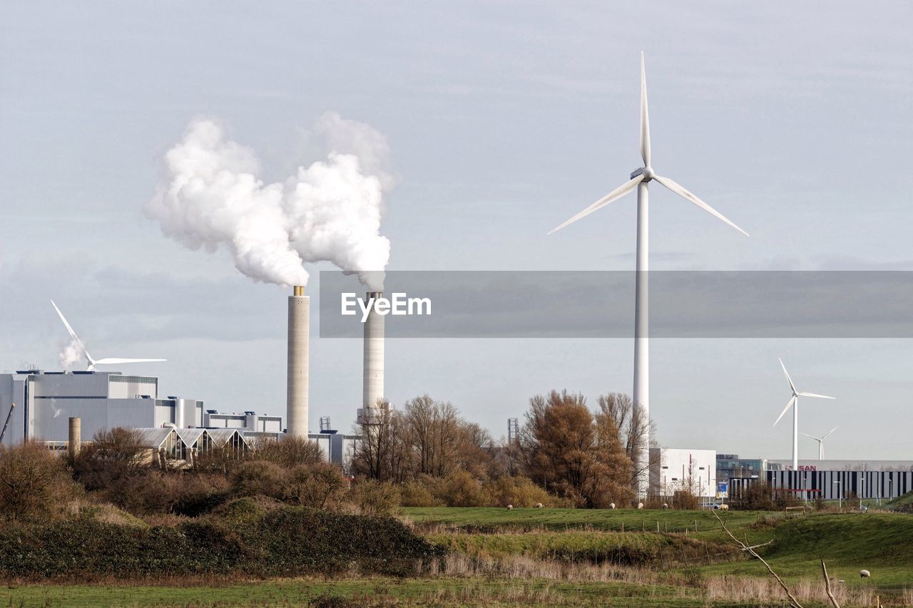
[[165, 176], [146, 215], [191, 248], [225, 247], [247, 277], [306, 285], [304, 262], [329, 261], [380, 289], [390, 241], [380, 234], [383, 194], [393, 188], [380, 131], [324, 114], [315, 131], [325, 161], [264, 183], [249, 148], [226, 139], [215, 121], [193, 121], [165, 154]]

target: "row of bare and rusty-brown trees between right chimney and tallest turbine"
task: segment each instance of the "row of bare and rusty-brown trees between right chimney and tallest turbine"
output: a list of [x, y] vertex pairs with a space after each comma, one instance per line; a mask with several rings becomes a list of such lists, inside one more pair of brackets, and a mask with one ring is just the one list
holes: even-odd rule
[[400, 409], [381, 400], [356, 424], [352, 474], [403, 487], [411, 506], [628, 506], [651, 423], [626, 394], [596, 404], [566, 390], [535, 395], [516, 441], [496, 441], [427, 394]]

